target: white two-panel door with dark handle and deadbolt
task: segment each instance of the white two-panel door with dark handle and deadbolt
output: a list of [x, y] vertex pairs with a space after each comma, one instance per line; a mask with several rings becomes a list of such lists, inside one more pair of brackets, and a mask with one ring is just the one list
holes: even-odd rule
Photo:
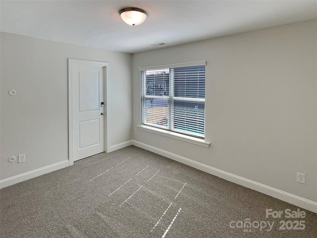
[[105, 151], [104, 66], [71, 64], [73, 161]]

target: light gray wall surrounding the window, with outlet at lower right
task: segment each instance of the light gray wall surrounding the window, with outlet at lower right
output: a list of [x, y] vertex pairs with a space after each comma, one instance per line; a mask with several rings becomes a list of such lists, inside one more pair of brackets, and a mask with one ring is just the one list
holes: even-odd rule
[[143, 130], [133, 139], [317, 201], [316, 32], [312, 20], [134, 54], [133, 127], [140, 125], [139, 67], [207, 61], [211, 146]]

